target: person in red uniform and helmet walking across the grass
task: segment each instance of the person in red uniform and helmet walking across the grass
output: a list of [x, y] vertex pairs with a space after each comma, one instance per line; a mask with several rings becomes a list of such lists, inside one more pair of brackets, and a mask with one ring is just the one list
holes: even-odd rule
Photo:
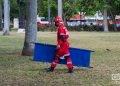
[[64, 26], [62, 22], [62, 18], [57, 16], [55, 18], [55, 26], [57, 28], [57, 46], [56, 46], [56, 55], [51, 63], [50, 68], [48, 68], [47, 72], [53, 72], [57, 63], [59, 61], [62, 61], [62, 59], [67, 61], [67, 68], [68, 73], [73, 72], [73, 65], [72, 60], [70, 58], [70, 52], [69, 52], [69, 34], [67, 28]]

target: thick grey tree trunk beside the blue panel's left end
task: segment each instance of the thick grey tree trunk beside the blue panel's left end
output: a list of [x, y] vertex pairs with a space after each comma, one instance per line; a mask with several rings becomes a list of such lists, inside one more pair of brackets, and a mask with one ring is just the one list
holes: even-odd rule
[[37, 40], [37, 0], [26, 0], [26, 29], [22, 55], [32, 56]]

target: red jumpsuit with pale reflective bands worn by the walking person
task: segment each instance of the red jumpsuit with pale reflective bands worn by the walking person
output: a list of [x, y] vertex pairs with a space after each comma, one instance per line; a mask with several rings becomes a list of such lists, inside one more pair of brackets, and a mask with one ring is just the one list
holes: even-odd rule
[[[61, 35], [64, 35], [65, 41], [61, 39], [60, 37]], [[72, 61], [70, 58], [70, 52], [69, 52], [69, 42], [67, 41], [68, 38], [69, 38], [69, 34], [67, 28], [63, 24], [60, 24], [57, 31], [57, 45], [59, 45], [60, 48], [56, 49], [56, 57], [54, 58], [51, 64], [52, 68], [55, 68], [57, 63], [61, 59], [65, 59], [67, 61], [68, 69], [73, 68]]]

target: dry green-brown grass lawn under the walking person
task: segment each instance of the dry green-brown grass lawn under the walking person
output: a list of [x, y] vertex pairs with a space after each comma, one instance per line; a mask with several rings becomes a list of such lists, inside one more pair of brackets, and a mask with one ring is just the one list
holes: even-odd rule
[[[67, 74], [65, 65], [53, 73], [50, 64], [34, 62], [33, 57], [21, 56], [24, 33], [0, 33], [0, 86], [120, 86], [111, 79], [120, 73], [120, 33], [70, 32], [71, 47], [91, 49], [92, 69], [75, 68]], [[56, 44], [55, 32], [39, 32], [38, 42]]]

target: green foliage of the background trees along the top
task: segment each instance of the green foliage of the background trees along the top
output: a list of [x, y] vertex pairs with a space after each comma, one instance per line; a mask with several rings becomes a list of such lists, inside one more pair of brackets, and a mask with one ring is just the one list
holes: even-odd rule
[[[4, 0], [0, 0], [0, 20], [4, 16]], [[22, 10], [24, 19], [26, 18], [26, 0], [22, 0]], [[57, 16], [57, 0], [50, 0], [50, 16]], [[63, 0], [63, 18], [64, 20], [69, 19], [78, 12], [83, 12], [84, 15], [94, 15], [96, 11], [101, 11], [104, 18], [108, 16], [112, 18], [114, 22], [114, 30], [116, 31], [115, 16], [120, 14], [120, 0]], [[106, 14], [107, 15], [104, 15]], [[2, 14], [1, 14], [2, 13]], [[18, 17], [19, 4], [18, 0], [10, 0], [10, 20]], [[37, 14], [39, 16], [48, 17], [48, 0], [37, 1]], [[1, 22], [1, 21], [0, 21]], [[1, 24], [0, 24], [1, 26]], [[108, 31], [107, 25], [104, 25], [105, 31]]]

